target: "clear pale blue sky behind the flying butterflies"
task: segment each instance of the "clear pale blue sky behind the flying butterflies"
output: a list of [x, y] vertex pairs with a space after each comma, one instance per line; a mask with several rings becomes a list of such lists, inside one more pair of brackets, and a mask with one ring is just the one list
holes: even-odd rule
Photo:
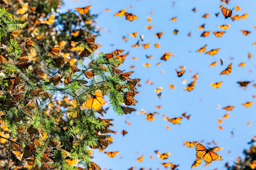
[[[255, 1], [238, 1], [232, 0], [228, 5], [224, 6], [233, 8], [236, 4], [242, 8], [241, 11], [233, 10], [233, 15], [242, 15], [249, 13], [248, 18], [244, 20], [232, 21], [231, 18], [225, 19], [222, 14], [219, 17], [215, 13], [220, 12], [220, 1], [202, 1], [193, 0], [175, 1], [172, 6], [172, 1], [161, 0], [66, 0], [66, 4], [62, 6], [62, 11], [74, 9], [75, 7], [85, 7], [92, 5], [90, 11], [92, 14], [101, 13], [97, 21], [97, 26], [102, 28], [101, 36], [96, 39], [96, 43], [100, 43], [103, 47], [98, 51], [105, 53], [115, 49], [123, 49], [125, 52], [130, 52], [126, 57], [125, 63], [121, 69], [126, 71], [134, 71], [131, 78], [140, 78], [142, 87], [138, 87], [139, 95], [135, 99], [139, 101], [135, 108], [141, 111], [143, 108], [147, 113], [159, 112], [156, 119], [149, 122], [145, 119], [146, 115], [137, 115], [135, 112], [131, 115], [118, 117], [111, 110], [108, 111], [104, 118], [114, 119], [112, 130], [117, 130], [116, 135], [111, 135], [114, 138], [113, 144], [105, 151], [120, 151], [114, 158], [108, 157], [103, 152], [94, 150], [93, 162], [97, 163], [102, 169], [126, 170], [132, 166], [137, 169], [144, 167], [146, 169], [165, 169], [160, 164], [161, 162], [172, 162], [179, 164], [180, 170], [190, 169], [191, 164], [195, 161], [195, 149], [182, 146], [183, 141], [201, 141], [211, 142], [215, 140], [217, 146], [223, 147], [218, 153], [223, 157], [223, 161], [214, 161], [208, 167], [204, 167], [204, 163], [195, 169], [212, 170], [214, 168], [224, 169], [225, 162], [232, 163], [237, 158], [237, 155], [242, 155], [244, 148], [249, 148], [246, 143], [256, 135], [256, 115], [255, 105], [245, 108], [241, 103], [247, 101], [255, 102], [252, 95], [256, 95], [256, 89], [252, 86], [255, 83], [255, 62], [256, 62], [256, 46], [252, 45], [255, 39]], [[132, 5], [132, 8], [129, 6]], [[191, 9], [196, 7], [197, 12], [193, 13]], [[104, 9], [110, 8], [109, 12]], [[125, 20], [125, 17], [114, 17], [113, 15], [126, 8], [128, 13], [135, 14], [139, 19], [132, 22]], [[153, 15], [150, 12], [153, 11]], [[208, 18], [202, 18], [208, 13]], [[148, 23], [147, 16], [152, 18], [152, 22]], [[170, 21], [171, 18], [177, 17], [176, 22]], [[204, 30], [198, 30], [198, 26], [205, 23]], [[230, 24], [223, 37], [216, 38], [214, 31], [222, 31], [217, 25]], [[145, 29], [145, 26], [152, 25], [151, 30]], [[106, 30], [109, 30], [107, 32]], [[172, 31], [178, 29], [177, 35], [173, 35]], [[241, 29], [252, 31], [251, 34], [244, 36]], [[132, 38], [129, 34], [139, 31], [136, 38]], [[211, 31], [208, 37], [202, 38], [200, 34], [203, 31]], [[154, 36], [157, 32], [164, 32], [159, 40]], [[188, 32], [192, 36], [188, 37]], [[140, 38], [139, 35], [144, 35], [144, 41], [140, 44], [150, 43], [149, 49], [131, 48]], [[123, 36], [128, 37], [128, 41], [122, 40]], [[154, 44], [159, 42], [161, 48], [155, 48]], [[114, 44], [112, 47], [110, 44]], [[206, 51], [221, 48], [217, 55], [210, 56], [204, 53], [197, 53], [196, 50], [207, 44]], [[163, 52], [172, 52], [177, 57], [170, 57], [166, 62], [161, 60], [161, 66], [156, 66], [160, 61]], [[205, 51], [205, 52], [206, 52]], [[124, 52], [124, 53], [125, 53]], [[252, 54], [252, 58], [248, 60], [248, 52]], [[147, 59], [145, 55], [152, 55], [152, 59]], [[132, 57], [138, 57], [136, 61]], [[234, 57], [230, 60], [230, 57]], [[224, 59], [223, 66], [219, 60]], [[208, 67], [209, 64], [218, 60], [216, 67]], [[219, 75], [230, 63], [233, 63], [232, 72], [229, 75]], [[238, 67], [238, 64], [245, 62], [245, 67]], [[143, 63], [152, 63], [149, 68], [145, 68]], [[133, 70], [129, 66], [135, 65]], [[185, 66], [186, 72], [182, 77], [177, 77], [175, 69], [179, 66]], [[248, 70], [251, 70], [251, 73]], [[160, 71], [164, 70], [161, 74]], [[189, 72], [192, 70], [192, 73]], [[198, 73], [198, 80], [195, 89], [191, 92], [184, 91], [186, 85], [193, 81], [191, 78], [195, 73]], [[154, 82], [153, 85], [145, 84], [146, 80], [150, 79]], [[186, 79], [185, 84], [182, 80]], [[213, 89], [210, 83], [223, 81], [221, 88]], [[249, 86], [243, 90], [237, 84], [237, 81], [252, 81]], [[177, 88], [170, 89], [168, 84], [173, 84]], [[163, 87], [161, 100], [156, 96], [155, 89]], [[201, 101], [200, 101], [201, 99]], [[217, 119], [221, 118], [227, 112], [225, 110], [216, 109], [227, 105], [235, 106], [233, 111], [230, 111], [230, 117], [223, 120], [223, 130], [218, 129]], [[162, 105], [160, 110], [155, 106]], [[167, 117], [178, 117], [182, 113], [191, 114], [190, 120], [182, 119], [180, 125], [172, 125], [163, 119], [162, 114]], [[128, 119], [131, 126], [125, 123]], [[247, 122], [251, 122], [251, 126]], [[170, 126], [167, 130], [165, 125]], [[126, 136], [121, 135], [121, 131], [128, 131]], [[234, 137], [231, 137], [231, 131], [234, 129]], [[210, 145], [213, 147], [213, 145]], [[167, 160], [160, 160], [156, 157], [154, 150], [160, 152], [171, 152]], [[230, 153], [227, 153], [230, 151]], [[136, 152], [139, 152], [136, 155]], [[149, 155], [152, 154], [154, 159], [151, 160]], [[135, 159], [144, 155], [144, 161], [139, 163]], [[120, 159], [119, 156], [123, 156]], [[169, 169], [169, 168], [168, 168]]]

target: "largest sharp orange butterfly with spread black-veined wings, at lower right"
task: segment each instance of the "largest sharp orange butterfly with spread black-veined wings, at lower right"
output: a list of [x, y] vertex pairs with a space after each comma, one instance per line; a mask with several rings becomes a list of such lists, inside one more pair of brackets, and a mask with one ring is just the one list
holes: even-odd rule
[[211, 163], [212, 161], [222, 161], [223, 158], [218, 154], [213, 152], [210, 148], [206, 149], [200, 142], [194, 141], [194, 146], [197, 151], [196, 156], [199, 159], [203, 159], [206, 163]]

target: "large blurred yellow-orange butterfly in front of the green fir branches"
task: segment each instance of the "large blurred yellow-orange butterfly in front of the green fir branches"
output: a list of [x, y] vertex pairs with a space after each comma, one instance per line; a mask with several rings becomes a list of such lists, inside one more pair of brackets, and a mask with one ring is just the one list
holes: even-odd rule
[[94, 92], [94, 95], [91, 98], [89, 98], [81, 105], [81, 110], [88, 108], [97, 111], [103, 104], [105, 104], [103, 95], [102, 92], [98, 89]]

